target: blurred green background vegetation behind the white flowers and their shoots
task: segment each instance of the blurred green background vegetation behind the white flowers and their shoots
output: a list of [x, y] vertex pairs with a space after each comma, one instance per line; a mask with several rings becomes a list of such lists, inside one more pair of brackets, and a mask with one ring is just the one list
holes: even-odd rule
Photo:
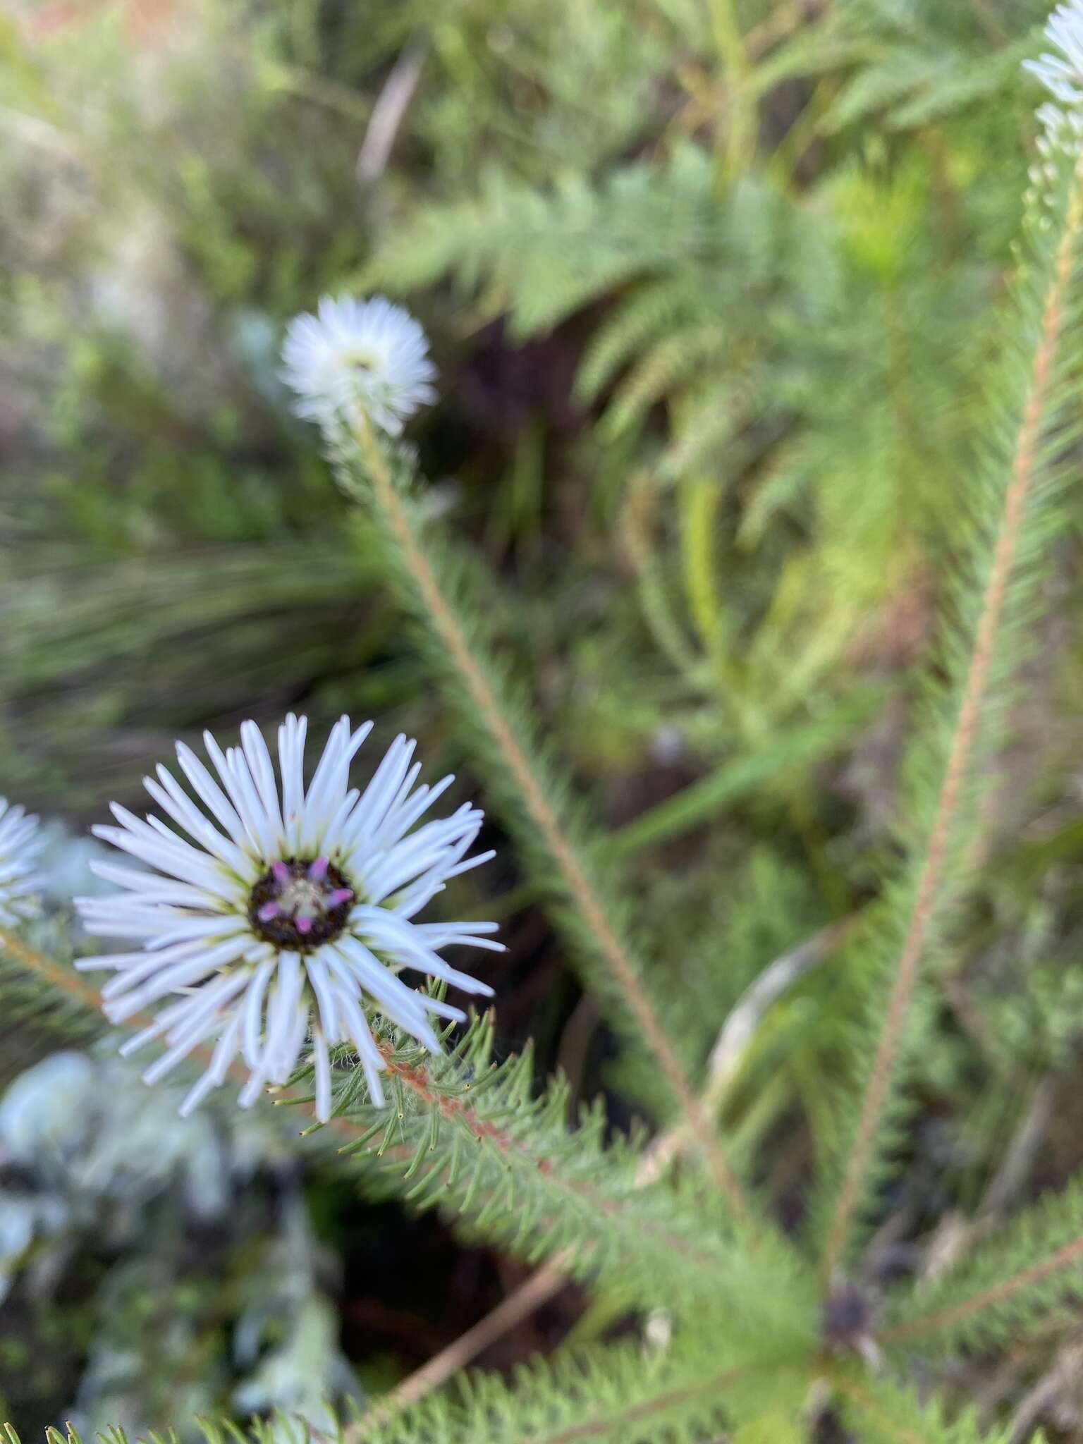
[[[136, 804], [175, 736], [289, 708], [316, 734], [373, 715], [433, 773], [461, 767], [365, 518], [276, 377], [321, 293], [393, 295], [440, 367], [412, 432], [427, 501], [497, 578], [508, 664], [609, 830], [702, 1063], [774, 957], [861, 911], [890, 846], [1047, 9], [6, 0], [1, 790], [81, 829]], [[1012, 1190], [1083, 1161], [1080, 520], [1053, 543], [998, 760], [988, 885], [939, 965], [900, 1238], [979, 1207], [1012, 1148]], [[504, 1045], [533, 1037], [576, 1096], [605, 1090], [615, 1128], [650, 1121], [656, 1083], [507, 849], [459, 904], [505, 928], [484, 973]], [[794, 1209], [846, 996], [840, 967], [813, 970], [726, 1105]], [[133, 1102], [104, 1054], [13, 1037], [0, 1024], [0, 1082], [23, 1090], [0, 1109], [0, 1417], [27, 1434], [315, 1418], [521, 1276], [360, 1203], [274, 1118], [227, 1103], [182, 1132], [168, 1090]], [[567, 1291], [482, 1362], [614, 1327]], [[1044, 1347], [956, 1385], [1011, 1412]]]

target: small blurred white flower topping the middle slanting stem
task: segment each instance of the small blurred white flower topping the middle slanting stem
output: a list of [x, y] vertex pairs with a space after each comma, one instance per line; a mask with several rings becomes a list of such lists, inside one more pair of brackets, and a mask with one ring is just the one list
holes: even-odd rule
[[323, 296], [316, 315], [295, 316], [282, 347], [283, 381], [297, 416], [328, 425], [360, 407], [397, 436], [403, 420], [436, 400], [436, 367], [420, 325], [384, 296]]

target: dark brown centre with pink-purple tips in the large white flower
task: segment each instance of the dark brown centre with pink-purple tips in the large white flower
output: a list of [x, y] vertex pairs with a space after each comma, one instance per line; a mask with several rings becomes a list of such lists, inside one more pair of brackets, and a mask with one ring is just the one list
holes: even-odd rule
[[282, 858], [256, 882], [248, 921], [257, 937], [290, 953], [310, 953], [345, 928], [354, 890], [326, 858]]

